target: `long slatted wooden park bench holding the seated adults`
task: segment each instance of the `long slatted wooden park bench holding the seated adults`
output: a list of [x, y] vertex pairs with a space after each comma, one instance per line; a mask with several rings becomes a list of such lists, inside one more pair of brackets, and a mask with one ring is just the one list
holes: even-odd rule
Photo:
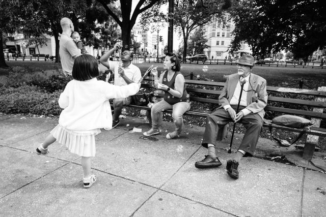
[[[218, 107], [219, 96], [225, 82], [213, 82], [202, 80], [185, 80], [186, 90], [190, 95], [192, 102], [192, 109], [187, 111], [185, 115], [194, 115], [200, 117], [206, 117], [212, 112], [213, 109]], [[148, 91], [154, 90], [152, 81], [146, 78], [142, 82], [142, 87], [147, 88]], [[268, 103], [265, 107], [266, 117], [270, 119], [282, 115], [292, 114], [302, 116], [310, 119], [313, 122], [307, 130], [307, 139], [305, 141], [303, 158], [311, 160], [315, 145], [318, 144], [319, 136], [326, 135], [326, 129], [320, 128], [320, 122], [323, 119], [326, 120], [326, 113], [323, 110], [326, 108], [326, 87], [319, 87], [318, 90], [310, 89], [298, 89], [298, 88], [286, 88], [286, 87], [274, 87], [267, 86]], [[158, 97], [162, 97], [160, 94]], [[197, 106], [193, 106], [197, 104]], [[150, 111], [148, 106], [129, 105], [130, 107], [145, 109]], [[194, 110], [193, 108], [201, 108]], [[166, 112], [172, 113], [171, 110]], [[147, 114], [150, 112], [147, 112]], [[302, 129], [296, 129], [291, 127], [285, 127], [275, 125], [271, 123], [264, 123], [263, 127], [272, 129], [281, 129], [284, 131], [291, 131], [300, 133]], [[218, 140], [222, 140], [226, 135], [227, 127], [220, 129]]]

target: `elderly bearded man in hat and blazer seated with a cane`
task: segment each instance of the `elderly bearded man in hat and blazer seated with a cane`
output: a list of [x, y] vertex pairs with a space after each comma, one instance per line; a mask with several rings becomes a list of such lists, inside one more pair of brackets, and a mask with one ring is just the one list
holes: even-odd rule
[[[236, 62], [238, 72], [227, 77], [219, 97], [219, 107], [206, 118], [206, 128], [202, 146], [208, 148], [208, 154], [202, 161], [196, 162], [197, 168], [212, 168], [222, 165], [216, 157], [215, 142], [219, 128], [230, 121], [241, 122], [246, 128], [237, 152], [227, 161], [227, 173], [230, 177], [239, 177], [238, 165], [242, 157], [253, 156], [263, 125], [264, 107], [267, 104], [266, 80], [251, 73], [254, 57], [243, 54]], [[241, 85], [243, 85], [242, 94]], [[241, 96], [241, 99], [239, 97]], [[239, 104], [239, 112], [236, 113]]]

